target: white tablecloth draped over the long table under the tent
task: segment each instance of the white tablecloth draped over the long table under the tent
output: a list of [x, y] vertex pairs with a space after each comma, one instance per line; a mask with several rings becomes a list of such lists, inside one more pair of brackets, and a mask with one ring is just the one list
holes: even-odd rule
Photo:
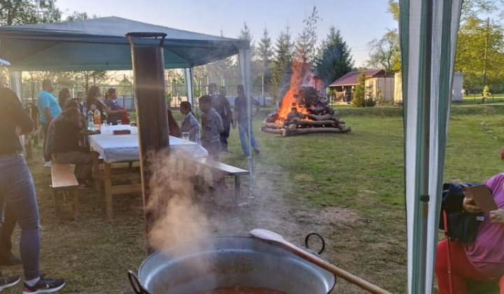
[[[114, 135], [114, 130], [130, 130], [131, 134]], [[99, 153], [106, 162], [125, 162], [139, 160], [137, 127], [113, 125], [102, 127], [102, 134], [87, 137], [92, 151]], [[204, 158], [208, 156], [205, 148], [194, 142], [186, 142], [169, 137], [170, 156], [177, 158]]]

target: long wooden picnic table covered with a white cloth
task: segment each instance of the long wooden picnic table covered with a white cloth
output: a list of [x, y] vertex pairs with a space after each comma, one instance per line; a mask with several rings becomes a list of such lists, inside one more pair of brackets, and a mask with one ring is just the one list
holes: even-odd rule
[[[130, 130], [131, 134], [114, 135], [114, 130]], [[120, 194], [141, 193], [141, 183], [130, 185], [113, 185], [113, 174], [139, 174], [140, 168], [133, 167], [132, 162], [139, 161], [139, 138], [137, 127], [115, 125], [102, 127], [102, 134], [87, 137], [93, 151], [94, 188], [101, 192], [100, 181], [104, 181], [106, 217], [113, 216], [112, 196]], [[170, 156], [175, 158], [204, 158], [208, 156], [199, 144], [169, 137]], [[103, 170], [99, 168], [103, 160]], [[129, 162], [129, 167], [117, 167], [118, 163]], [[114, 168], [113, 165], [116, 167]]]

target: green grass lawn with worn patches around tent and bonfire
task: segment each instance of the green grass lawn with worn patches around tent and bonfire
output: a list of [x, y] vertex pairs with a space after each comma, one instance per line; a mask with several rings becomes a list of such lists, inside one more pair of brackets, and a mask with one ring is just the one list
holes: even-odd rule
[[[405, 293], [402, 109], [340, 111], [352, 127], [348, 134], [277, 137], [255, 132], [262, 150], [255, 158], [255, 198], [239, 211], [207, 211], [214, 228], [208, 235], [246, 235], [262, 227], [302, 244], [306, 233], [320, 232], [330, 262], [393, 293]], [[267, 112], [255, 118], [254, 130]], [[499, 106], [452, 107], [445, 181], [484, 181], [502, 172], [503, 114]], [[230, 149], [233, 153], [223, 161], [246, 167], [237, 130], [232, 130]], [[57, 225], [50, 170], [42, 167], [40, 148], [35, 151], [29, 166], [41, 211], [42, 271], [67, 279], [62, 293], [130, 293], [126, 272], [145, 257], [141, 198], [114, 197], [115, 216], [109, 222], [104, 197], [81, 192], [81, 220]], [[16, 244], [18, 237], [16, 231]], [[21, 267], [2, 270], [22, 272]], [[361, 292], [338, 279], [335, 293]]]

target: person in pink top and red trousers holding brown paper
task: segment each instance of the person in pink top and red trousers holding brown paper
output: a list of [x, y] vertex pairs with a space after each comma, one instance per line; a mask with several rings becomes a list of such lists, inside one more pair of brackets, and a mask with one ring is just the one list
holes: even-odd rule
[[[463, 209], [469, 214], [484, 212], [484, 218], [474, 242], [462, 244], [444, 239], [437, 244], [435, 274], [440, 294], [467, 293], [465, 279], [497, 281], [500, 294], [504, 294], [504, 174], [493, 176], [485, 185], [492, 191], [493, 200], [499, 209], [484, 212], [474, 199], [464, 198]], [[448, 265], [448, 260], [451, 267]], [[450, 292], [449, 269], [451, 269], [452, 292]]]

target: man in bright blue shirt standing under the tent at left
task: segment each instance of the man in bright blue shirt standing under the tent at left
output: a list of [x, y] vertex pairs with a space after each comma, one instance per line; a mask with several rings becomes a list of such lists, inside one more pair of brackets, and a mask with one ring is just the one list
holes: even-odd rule
[[[54, 91], [54, 86], [52, 85], [52, 80], [45, 79], [42, 81], [42, 90], [38, 93], [37, 97], [37, 107], [38, 114], [40, 115], [40, 120], [42, 124], [42, 132], [44, 134], [44, 148], [47, 138], [47, 132], [49, 124], [52, 118], [59, 116], [62, 113], [61, 107], [57, 103], [56, 98], [51, 94]], [[44, 153], [44, 167], [50, 167], [50, 154]]]

